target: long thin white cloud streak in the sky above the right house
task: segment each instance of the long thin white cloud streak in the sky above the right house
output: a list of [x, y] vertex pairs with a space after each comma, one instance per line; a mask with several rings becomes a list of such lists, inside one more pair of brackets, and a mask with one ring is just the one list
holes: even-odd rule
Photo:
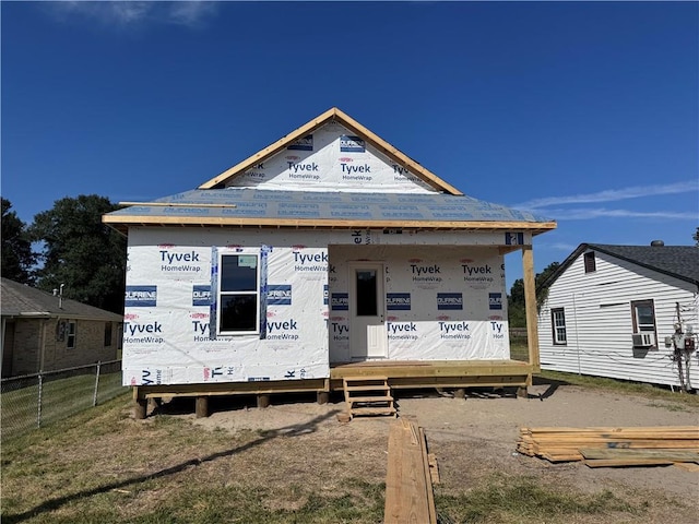
[[[656, 186], [637, 186], [623, 189], [607, 189], [596, 193], [573, 194], [569, 196], [547, 196], [545, 199], [534, 199], [521, 204], [513, 205], [518, 210], [538, 210], [550, 205], [565, 204], [585, 204], [593, 202], [616, 202], [619, 200], [638, 199], [642, 196], [653, 196], [657, 194], [677, 194], [697, 191], [699, 189], [698, 180], [687, 180], [683, 182], [656, 184]], [[590, 210], [594, 211], [594, 210]], [[620, 210], [619, 210], [620, 211]], [[550, 210], [546, 211], [552, 213]], [[630, 213], [630, 212], [629, 212]], [[623, 215], [631, 216], [631, 215]]]

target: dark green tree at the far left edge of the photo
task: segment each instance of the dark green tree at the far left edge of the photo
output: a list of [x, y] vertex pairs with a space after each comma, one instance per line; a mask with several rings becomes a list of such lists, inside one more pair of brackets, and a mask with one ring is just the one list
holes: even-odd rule
[[2, 201], [2, 276], [21, 284], [32, 284], [32, 267], [36, 255], [32, 252], [32, 241], [24, 224], [12, 209], [12, 203]]

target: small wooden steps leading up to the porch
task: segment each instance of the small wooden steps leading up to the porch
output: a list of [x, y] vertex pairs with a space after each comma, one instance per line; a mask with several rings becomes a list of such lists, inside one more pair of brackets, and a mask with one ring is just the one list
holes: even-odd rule
[[398, 416], [388, 377], [344, 377], [350, 419], [366, 415]]

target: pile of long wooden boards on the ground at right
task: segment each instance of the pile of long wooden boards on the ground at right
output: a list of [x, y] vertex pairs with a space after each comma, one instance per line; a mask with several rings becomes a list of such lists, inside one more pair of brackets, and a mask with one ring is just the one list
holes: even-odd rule
[[590, 467], [699, 464], [699, 426], [520, 428], [517, 451]]

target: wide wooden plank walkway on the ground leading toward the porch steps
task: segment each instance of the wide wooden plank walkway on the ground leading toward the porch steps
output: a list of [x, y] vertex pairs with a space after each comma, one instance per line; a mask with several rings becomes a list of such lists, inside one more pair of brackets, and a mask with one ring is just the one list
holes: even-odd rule
[[384, 524], [437, 524], [431, 468], [425, 432], [415, 422], [400, 419], [389, 430]]

